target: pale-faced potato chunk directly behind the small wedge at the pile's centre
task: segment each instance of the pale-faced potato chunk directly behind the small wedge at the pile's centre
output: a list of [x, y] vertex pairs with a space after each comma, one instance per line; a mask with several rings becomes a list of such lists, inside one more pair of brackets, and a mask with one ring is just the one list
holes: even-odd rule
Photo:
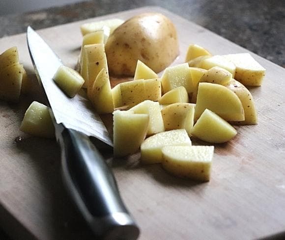
[[185, 87], [187, 93], [193, 92], [190, 68], [187, 63], [166, 68], [161, 77], [164, 94], [177, 87]]

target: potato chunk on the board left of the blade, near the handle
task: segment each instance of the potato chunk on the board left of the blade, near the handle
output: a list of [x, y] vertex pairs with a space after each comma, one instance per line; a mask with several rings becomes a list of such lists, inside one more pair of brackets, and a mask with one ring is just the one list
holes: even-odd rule
[[37, 137], [54, 138], [55, 127], [49, 108], [33, 101], [25, 113], [20, 130]]

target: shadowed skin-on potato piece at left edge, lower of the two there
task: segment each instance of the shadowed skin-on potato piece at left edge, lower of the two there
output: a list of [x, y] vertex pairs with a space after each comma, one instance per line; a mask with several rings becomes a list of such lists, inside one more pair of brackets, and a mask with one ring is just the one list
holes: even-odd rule
[[0, 99], [18, 102], [21, 94], [23, 65], [15, 64], [0, 71]]

